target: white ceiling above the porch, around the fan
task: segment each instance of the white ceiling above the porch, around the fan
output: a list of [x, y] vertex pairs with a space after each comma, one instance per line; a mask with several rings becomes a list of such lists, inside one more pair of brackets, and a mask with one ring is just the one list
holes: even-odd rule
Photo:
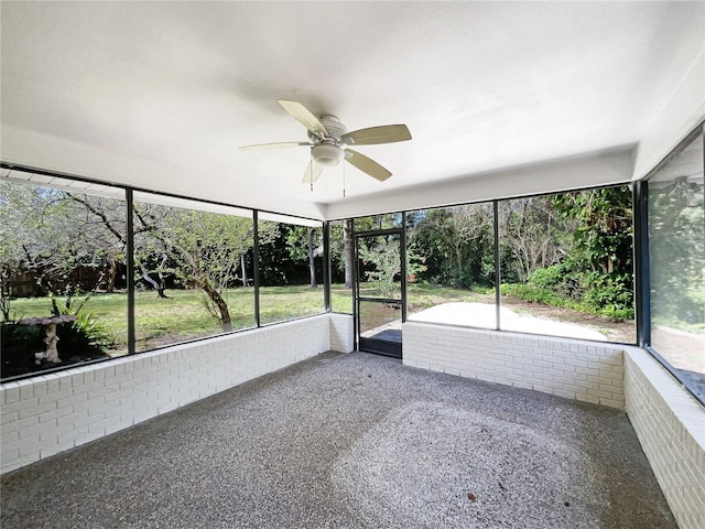
[[[403, 193], [419, 202], [448, 182], [468, 190], [448, 202], [473, 198], [468, 182], [496, 171], [497, 196], [511, 194], [510, 168], [628, 155], [702, 60], [704, 8], [3, 1], [0, 154], [318, 218], [336, 205], [370, 213], [366, 204], [384, 208]], [[393, 173], [388, 181], [348, 164], [345, 198], [340, 168], [312, 192], [301, 183], [307, 148], [237, 149], [306, 140], [275, 99], [338, 116], [350, 130], [403, 122], [413, 140], [358, 148]], [[620, 177], [629, 171], [604, 180]]]

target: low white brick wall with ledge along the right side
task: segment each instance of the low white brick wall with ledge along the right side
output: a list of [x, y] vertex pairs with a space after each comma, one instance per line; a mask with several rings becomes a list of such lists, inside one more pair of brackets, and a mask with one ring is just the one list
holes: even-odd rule
[[679, 527], [705, 527], [705, 409], [646, 350], [625, 353], [627, 414]]

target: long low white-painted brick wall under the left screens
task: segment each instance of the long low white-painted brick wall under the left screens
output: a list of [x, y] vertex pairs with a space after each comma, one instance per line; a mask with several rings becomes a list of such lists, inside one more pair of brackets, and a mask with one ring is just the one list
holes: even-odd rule
[[[346, 319], [335, 317], [332, 324], [330, 316], [295, 320], [0, 385], [0, 472], [94, 441], [330, 348], [344, 350]], [[338, 333], [335, 347], [330, 339], [334, 327]]]

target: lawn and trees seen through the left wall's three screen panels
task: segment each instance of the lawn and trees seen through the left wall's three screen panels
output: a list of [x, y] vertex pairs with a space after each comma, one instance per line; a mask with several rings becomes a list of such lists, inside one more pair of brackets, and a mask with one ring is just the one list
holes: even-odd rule
[[[134, 195], [137, 350], [252, 327], [252, 213]], [[72, 358], [126, 353], [126, 202], [7, 181], [0, 202], [3, 376], [53, 367], [23, 317], [76, 316], [57, 328]], [[261, 321], [323, 311], [321, 228], [263, 220], [258, 237]]]

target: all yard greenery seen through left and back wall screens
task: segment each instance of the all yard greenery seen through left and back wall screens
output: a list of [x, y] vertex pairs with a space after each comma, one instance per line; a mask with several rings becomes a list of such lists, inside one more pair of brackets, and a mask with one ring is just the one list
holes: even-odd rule
[[[91, 344], [88, 356], [126, 353], [124, 201], [9, 182], [0, 186], [7, 206], [0, 213], [3, 325], [9, 328], [25, 316], [74, 314], [76, 323], [59, 326], [61, 332], [83, 335]], [[254, 325], [251, 213], [198, 206], [186, 201], [164, 205], [159, 197], [135, 193], [138, 350]], [[502, 295], [615, 321], [633, 317], [629, 188], [502, 201], [498, 206]], [[438, 300], [491, 299], [492, 215], [491, 203], [406, 214], [410, 310]], [[401, 227], [401, 220], [399, 214], [358, 218], [355, 231]], [[348, 313], [351, 233], [349, 222], [332, 225], [333, 281], [339, 282], [333, 288], [333, 309]], [[321, 227], [260, 219], [257, 235], [260, 321], [321, 312]], [[359, 256], [365, 287], [376, 292], [370, 295], [398, 299], [400, 238], [366, 238]], [[19, 334], [6, 331], [3, 336]], [[30, 349], [37, 347], [33, 339], [26, 342]], [[62, 345], [66, 349], [66, 342]]]

